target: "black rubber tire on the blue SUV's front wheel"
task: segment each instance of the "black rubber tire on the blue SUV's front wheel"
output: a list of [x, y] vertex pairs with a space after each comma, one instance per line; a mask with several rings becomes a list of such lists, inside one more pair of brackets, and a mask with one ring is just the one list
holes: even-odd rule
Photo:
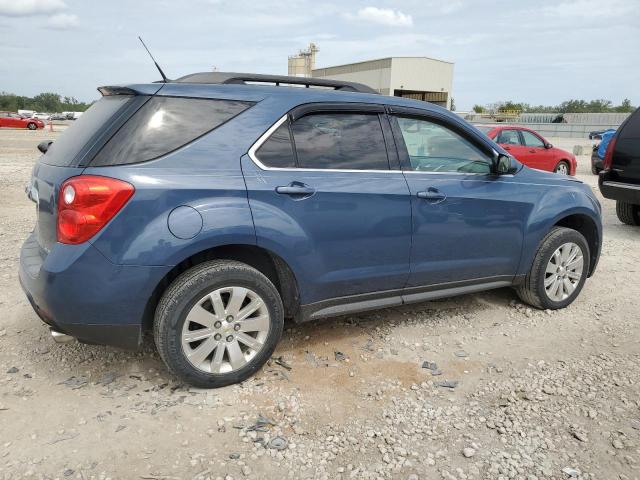
[[[575, 285], [571, 282], [571, 278], [569, 278], [569, 283], [574, 285], [573, 291], [567, 294], [566, 298], [554, 299], [547, 292], [545, 281], [550, 280], [554, 275], [557, 277], [558, 271], [547, 276], [547, 266], [552, 265], [552, 257], [555, 252], [561, 246], [569, 244], [575, 245], [582, 255], [580, 278], [577, 279]], [[533, 264], [531, 265], [531, 270], [529, 270], [529, 273], [525, 276], [524, 282], [516, 288], [518, 296], [523, 302], [540, 309], [557, 310], [568, 306], [577, 298], [584, 286], [589, 272], [590, 258], [589, 244], [580, 232], [564, 227], [552, 228], [540, 242]], [[579, 263], [574, 265], [577, 267]], [[572, 273], [575, 274], [575, 272], [570, 273], [569, 269], [565, 269], [564, 273], [568, 275]], [[560, 274], [562, 274], [562, 272], [560, 272]], [[549, 284], [549, 288], [553, 289], [553, 283], [555, 282]], [[561, 288], [564, 292], [565, 286], [561, 285]]]

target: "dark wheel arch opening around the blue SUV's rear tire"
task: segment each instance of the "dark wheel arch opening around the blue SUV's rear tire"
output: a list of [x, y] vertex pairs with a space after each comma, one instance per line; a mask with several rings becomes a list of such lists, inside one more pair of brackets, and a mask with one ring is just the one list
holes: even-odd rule
[[142, 326], [145, 330], [153, 327], [156, 307], [169, 285], [183, 272], [209, 260], [236, 260], [255, 268], [265, 275], [280, 293], [285, 318], [297, 319], [299, 316], [298, 281], [287, 262], [270, 250], [256, 245], [230, 244], [219, 245], [190, 255], [173, 267], [158, 282], [144, 309]]

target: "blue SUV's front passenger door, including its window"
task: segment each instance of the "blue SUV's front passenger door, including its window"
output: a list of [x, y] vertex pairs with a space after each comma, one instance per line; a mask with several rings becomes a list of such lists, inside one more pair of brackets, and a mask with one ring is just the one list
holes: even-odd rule
[[413, 212], [408, 287], [510, 282], [531, 208], [518, 185], [492, 174], [486, 144], [450, 120], [395, 112]]

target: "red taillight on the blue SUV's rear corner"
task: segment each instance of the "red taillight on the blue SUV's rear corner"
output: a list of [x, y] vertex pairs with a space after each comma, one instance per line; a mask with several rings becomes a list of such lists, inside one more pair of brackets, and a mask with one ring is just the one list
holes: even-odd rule
[[115, 178], [80, 175], [62, 184], [58, 197], [58, 241], [86, 242], [133, 195], [133, 185]]

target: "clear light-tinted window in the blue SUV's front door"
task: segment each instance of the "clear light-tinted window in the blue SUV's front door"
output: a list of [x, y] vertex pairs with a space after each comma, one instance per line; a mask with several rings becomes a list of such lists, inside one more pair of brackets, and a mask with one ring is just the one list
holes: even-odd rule
[[458, 133], [425, 119], [396, 117], [407, 148], [410, 170], [491, 173], [491, 161]]

